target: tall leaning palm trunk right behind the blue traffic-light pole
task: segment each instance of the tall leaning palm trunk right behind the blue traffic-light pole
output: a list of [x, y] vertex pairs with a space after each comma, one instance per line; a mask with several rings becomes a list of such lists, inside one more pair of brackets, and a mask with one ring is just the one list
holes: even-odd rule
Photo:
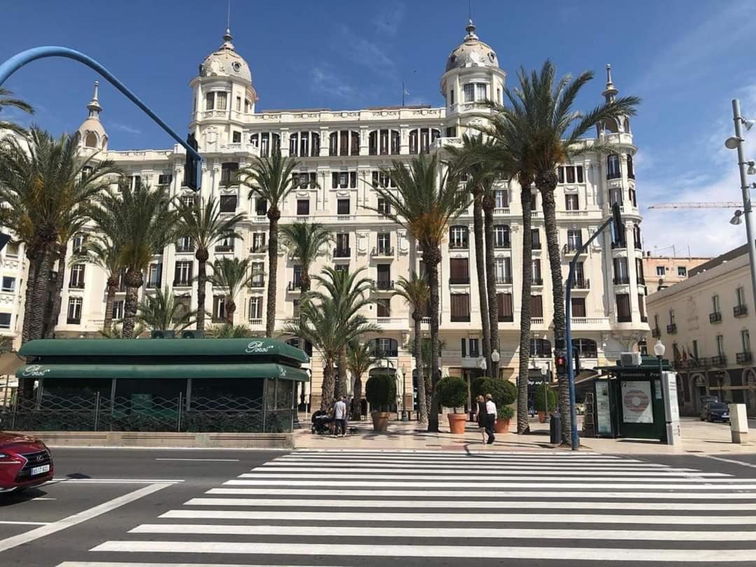
[[[560, 350], [569, 348], [569, 345], [565, 345], [565, 290], [562, 280], [562, 257], [559, 250], [559, 230], [556, 227], [556, 203], [554, 201], [556, 181], [556, 173], [549, 171], [538, 176], [536, 186], [541, 191], [541, 200], [544, 203], [544, 228], [546, 245], [549, 250], [551, 290], [554, 304], [554, 348]], [[554, 367], [556, 368], [556, 361], [554, 361]], [[572, 429], [569, 413], [569, 380], [567, 376], [562, 375], [558, 378], [559, 412], [562, 414], [562, 443], [569, 443]]]

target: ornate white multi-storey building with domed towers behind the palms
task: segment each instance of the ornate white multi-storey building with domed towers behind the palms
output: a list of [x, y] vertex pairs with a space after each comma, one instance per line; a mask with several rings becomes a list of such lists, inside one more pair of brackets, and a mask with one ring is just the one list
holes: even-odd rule
[[[479, 101], [502, 99], [507, 73], [499, 67], [494, 50], [476, 35], [472, 21], [463, 42], [451, 51], [441, 76], [441, 107], [370, 107], [363, 110], [257, 110], [259, 100], [246, 60], [237, 53], [228, 30], [223, 43], [200, 64], [191, 81], [192, 107], [189, 128], [205, 158], [202, 169], [203, 197], [216, 197], [229, 214], [245, 213], [239, 230], [243, 238], [219, 243], [214, 257], [232, 255], [249, 258], [267, 271], [265, 243], [268, 218], [265, 203], [248, 199], [246, 188], [234, 182], [234, 172], [247, 166], [253, 156], [270, 156], [279, 151], [299, 160], [299, 187], [282, 208], [281, 223], [295, 220], [321, 222], [335, 234], [333, 246], [324, 250], [314, 266], [364, 267], [377, 282], [377, 304], [367, 316], [383, 327], [376, 345], [389, 355], [389, 364], [407, 374], [406, 392], [411, 392], [413, 362], [407, 351], [413, 321], [404, 300], [392, 297], [392, 282], [418, 268], [421, 254], [401, 226], [373, 212], [381, 209], [373, 187], [389, 181], [380, 174], [391, 160], [410, 160], [421, 153], [433, 153], [446, 145], [460, 144], [460, 136], [471, 123], [481, 120]], [[607, 69], [603, 95], [618, 92]], [[262, 88], [264, 92], [264, 87]], [[101, 106], [95, 95], [87, 105], [83, 122], [82, 153], [101, 150], [121, 166], [133, 181], [169, 185], [172, 195], [192, 199], [194, 193], [182, 187], [184, 150], [180, 146], [162, 150], [112, 151], [100, 120]], [[610, 204], [619, 201], [627, 219], [627, 247], [612, 246], [603, 234], [584, 255], [573, 290], [573, 336], [583, 353], [584, 367], [603, 364], [622, 351], [637, 348], [649, 330], [644, 314], [646, 287], [642, 271], [640, 214], [635, 197], [632, 156], [636, 152], [630, 123], [606, 124], [597, 137], [616, 147], [611, 156], [589, 154], [559, 168], [557, 220], [564, 249], [562, 268], [567, 274], [568, 253], [575, 244], [595, 231], [609, 214]], [[521, 243], [533, 239], [533, 346], [534, 369], [550, 368], [553, 328], [551, 289], [548, 274], [541, 199], [533, 192], [533, 234], [520, 230], [519, 187], [502, 183], [497, 190], [495, 240], [499, 292], [500, 355], [503, 376], [513, 377], [518, 365]], [[71, 246], [77, 246], [77, 237]], [[482, 374], [481, 318], [472, 238], [472, 207], [453, 223], [443, 245], [441, 333], [444, 342], [442, 366], [445, 373], [462, 376]], [[14, 270], [3, 253], [4, 266]], [[569, 254], [572, 256], [572, 254]], [[58, 336], [90, 336], [98, 333], [104, 319], [105, 276], [92, 266], [68, 268]], [[278, 255], [277, 323], [294, 314], [299, 290], [296, 261], [283, 250]], [[142, 293], [168, 286], [186, 301], [196, 302], [197, 265], [191, 243], [176, 243], [155, 256], [146, 274]], [[3, 280], [5, 287], [5, 278]], [[18, 283], [16, 284], [18, 285]], [[116, 319], [123, 313], [125, 290], [116, 299]], [[208, 308], [221, 318], [222, 293], [208, 284]], [[191, 299], [188, 299], [191, 298]], [[212, 298], [212, 299], [211, 299]], [[0, 294], [2, 299], [2, 294]], [[237, 323], [264, 330], [265, 279], [237, 298]], [[20, 330], [16, 308], [0, 305], [0, 326], [11, 313], [11, 330]], [[318, 403], [322, 364], [313, 353], [312, 393]]]

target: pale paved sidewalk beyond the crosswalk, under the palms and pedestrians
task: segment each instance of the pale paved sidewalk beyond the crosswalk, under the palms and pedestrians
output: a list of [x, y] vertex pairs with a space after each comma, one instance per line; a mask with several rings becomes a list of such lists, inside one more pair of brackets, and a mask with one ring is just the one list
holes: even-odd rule
[[[376, 450], [416, 450], [416, 451], [543, 451], [558, 449], [569, 451], [549, 442], [549, 424], [530, 420], [531, 433], [516, 435], [516, 421], [510, 422], [510, 432], [496, 435], [493, 445], [483, 445], [481, 435], [474, 423], [467, 423], [464, 435], [449, 432], [445, 416], [439, 420], [441, 432], [429, 433], [426, 426], [416, 421], [402, 422], [392, 420], [386, 433], [373, 431], [373, 424], [368, 421], [349, 422], [349, 428], [356, 432], [344, 438], [329, 435], [313, 435], [310, 422], [305, 415], [300, 415], [302, 429], [295, 431], [294, 444], [298, 449], [376, 449]], [[578, 417], [578, 426], [581, 426]], [[727, 423], [702, 423], [695, 417], [683, 417], [680, 420], [683, 441], [680, 445], [663, 445], [654, 439], [611, 439], [581, 438], [581, 450], [603, 454], [756, 454], [756, 430], [754, 420], [749, 424], [752, 437], [744, 445], [731, 442], [730, 426]]]

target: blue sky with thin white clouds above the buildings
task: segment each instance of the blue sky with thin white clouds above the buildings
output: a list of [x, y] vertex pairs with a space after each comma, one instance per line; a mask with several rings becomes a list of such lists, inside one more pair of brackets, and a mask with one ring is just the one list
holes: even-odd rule
[[[188, 82], [220, 45], [226, 0], [17, 2], [0, 0], [0, 60], [37, 45], [91, 54], [178, 132], [191, 110]], [[756, 61], [748, 23], [756, 2], [472, 2], [479, 36], [516, 85], [516, 70], [550, 57], [559, 73], [591, 69], [578, 107], [600, 102], [604, 67], [623, 95], [643, 98], [633, 122], [638, 199], [739, 200], [731, 133], [732, 98], [756, 116]], [[442, 104], [438, 80], [464, 35], [466, 2], [251, 2], [232, 0], [231, 32], [265, 108], [358, 108]], [[5, 86], [37, 109], [34, 121], [72, 131], [85, 117], [95, 73], [69, 60], [43, 60]], [[101, 85], [113, 149], [169, 147], [156, 125], [110, 85]], [[750, 141], [750, 140], [749, 140]], [[752, 142], [751, 142], [752, 145]], [[756, 156], [756, 149], [751, 155]], [[644, 212], [649, 250], [710, 255], [745, 241], [729, 209]]]

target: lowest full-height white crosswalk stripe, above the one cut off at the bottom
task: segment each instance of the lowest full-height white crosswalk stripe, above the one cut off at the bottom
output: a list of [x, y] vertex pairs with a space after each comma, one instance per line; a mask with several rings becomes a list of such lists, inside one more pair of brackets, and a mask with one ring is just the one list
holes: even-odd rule
[[[299, 556], [374, 556], [374, 545], [251, 543], [246, 541], [106, 541], [92, 551], [147, 553], [249, 553]], [[743, 550], [668, 550], [587, 547], [494, 547], [453, 545], [381, 545], [383, 556], [476, 559], [569, 559], [650, 562], [743, 562]]]

